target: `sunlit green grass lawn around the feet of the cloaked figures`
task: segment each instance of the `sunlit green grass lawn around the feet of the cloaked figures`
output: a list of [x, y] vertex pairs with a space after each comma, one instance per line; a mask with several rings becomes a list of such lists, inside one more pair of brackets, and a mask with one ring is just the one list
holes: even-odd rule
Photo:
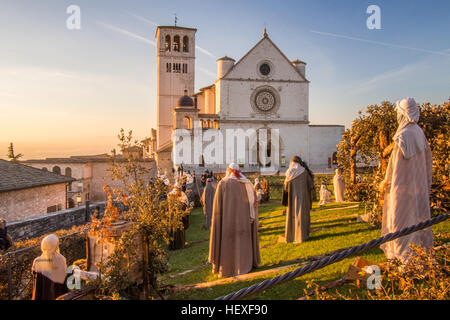
[[[274, 199], [269, 203], [262, 204], [259, 207], [260, 227], [268, 227], [268, 229], [259, 231], [260, 247], [262, 248], [261, 265], [258, 269], [253, 271], [262, 271], [275, 268], [277, 266], [281, 266], [281, 261], [325, 254], [337, 249], [360, 245], [370, 241], [371, 239], [380, 237], [380, 229], [371, 229], [368, 224], [358, 223], [355, 219], [352, 219], [352, 215], [364, 213], [364, 209], [360, 207], [345, 208], [352, 205], [355, 205], [355, 203], [331, 203], [319, 208], [317, 203], [314, 203], [313, 210], [311, 212], [311, 229], [313, 232], [310, 234], [310, 239], [305, 243], [292, 244], [275, 243], [277, 242], [278, 237], [284, 234], [285, 228], [286, 217], [283, 216], [283, 210], [285, 208], [281, 206], [280, 200]], [[261, 218], [267, 219], [261, 220]], [[186, 231], [187, 242], [209, 238], [209, 231], [201, 228], [203, 225], [203, 219], [204, 216], [202, 208], [195, 208], [191, 213], [190, 227]], [[319, 221], [324, 219], [329, 220]], [[448, 233], [449, 230], [449, 221], [440, 223], [433, 227], [435, 234], [443, 232]], [[267, 247], [264, 247], [266, 245]], [[185, 249], [171, 251], [169, 260], [170, 269], [169, 272], [162, 278], [204, 265], [208, 260], [208, 250], [209, 243], [206, 241], [192, 244]], [[376, 263], [385, 260], [383, 252], [378, 248], [368, 250], [359, 256]], [[349, 265], [355, 259], [356, 257], [349, 257], [323, 269], [319, 269], [300, 278], [250, 296], [249, 299], [297, 299], [304, 296], [304, 290], [307, 289], [307, 281], [314, 280], [317, 284], [324, 284], [339, 279], [347, 272]], [[175, 292], [169, 298], [215, 299], [219, 296], [248, 287], [254, 283], [273, 278], [277, 275], [284, 274], [297, 268], [298, 267], [283, 269], [277, 273], [271, 273], [245, 281], [216, 285], [210, 288]], [[217, 279], [219, 279], [218, 276], [211, 272], [211, 266], [207, 266], [200, 270], [165, 280], [163, 283], [185, 285], [209, 282]], [[348, 290], [350, 286], [350, 284], [344, 285], [339, 288], [339, 291], [345, 292], [345, 290]], [[362, 290], [361, 293], [363, 294]]]

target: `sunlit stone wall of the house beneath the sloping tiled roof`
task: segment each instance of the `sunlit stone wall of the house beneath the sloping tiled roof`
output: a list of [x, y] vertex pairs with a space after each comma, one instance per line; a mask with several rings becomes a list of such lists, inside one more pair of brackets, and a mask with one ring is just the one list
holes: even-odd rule
[[66, 209], [66, 183], [13, 190], [0, 193], [0, 218], [8, 221], [47, 213], [47, 208], [58, 205]]

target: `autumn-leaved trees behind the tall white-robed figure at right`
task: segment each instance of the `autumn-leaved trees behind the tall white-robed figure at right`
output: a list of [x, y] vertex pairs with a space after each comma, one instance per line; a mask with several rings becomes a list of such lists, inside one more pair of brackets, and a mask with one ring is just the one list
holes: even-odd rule
[[[431, 206], [435, 212], [449, 210], [449, 102], [441, 105], [424, 103], [420, 106], [419, 126], [430, 143], [433, 153], [433, 186]], [[338, 164], [346, 179], [347, 196], [352, 200], [374, 202], [374, 214], [381, 221], [382, 195], [379, 184], [389, 162], [394, 147], [392, 140], [397, 131], [397, 115], [392, 103], [384, 101], [381, 105], [369, 105], [360, 111], [338, 145]], [[356, 163], [378, 164], [372, 182], [356, 184]], [[363, 197], [364, 195], [364, 197]], [[363, 199], [362, 199], [363, 198]]]

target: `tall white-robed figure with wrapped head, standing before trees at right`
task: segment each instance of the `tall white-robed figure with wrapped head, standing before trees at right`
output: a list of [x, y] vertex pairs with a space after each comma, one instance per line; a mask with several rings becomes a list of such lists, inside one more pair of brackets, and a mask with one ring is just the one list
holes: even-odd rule
[[[412, 98], [396, 104], [398, 129], [389, 158], [384, 189], [382, 232], [384, 236], [430, 219], [432, 154], [422, 129], [417, 125], [420, 110]], [[409, 244], [433, 246], [431, 228], [416, 231], [381, 245], [388, 259], [408, 259]]]

